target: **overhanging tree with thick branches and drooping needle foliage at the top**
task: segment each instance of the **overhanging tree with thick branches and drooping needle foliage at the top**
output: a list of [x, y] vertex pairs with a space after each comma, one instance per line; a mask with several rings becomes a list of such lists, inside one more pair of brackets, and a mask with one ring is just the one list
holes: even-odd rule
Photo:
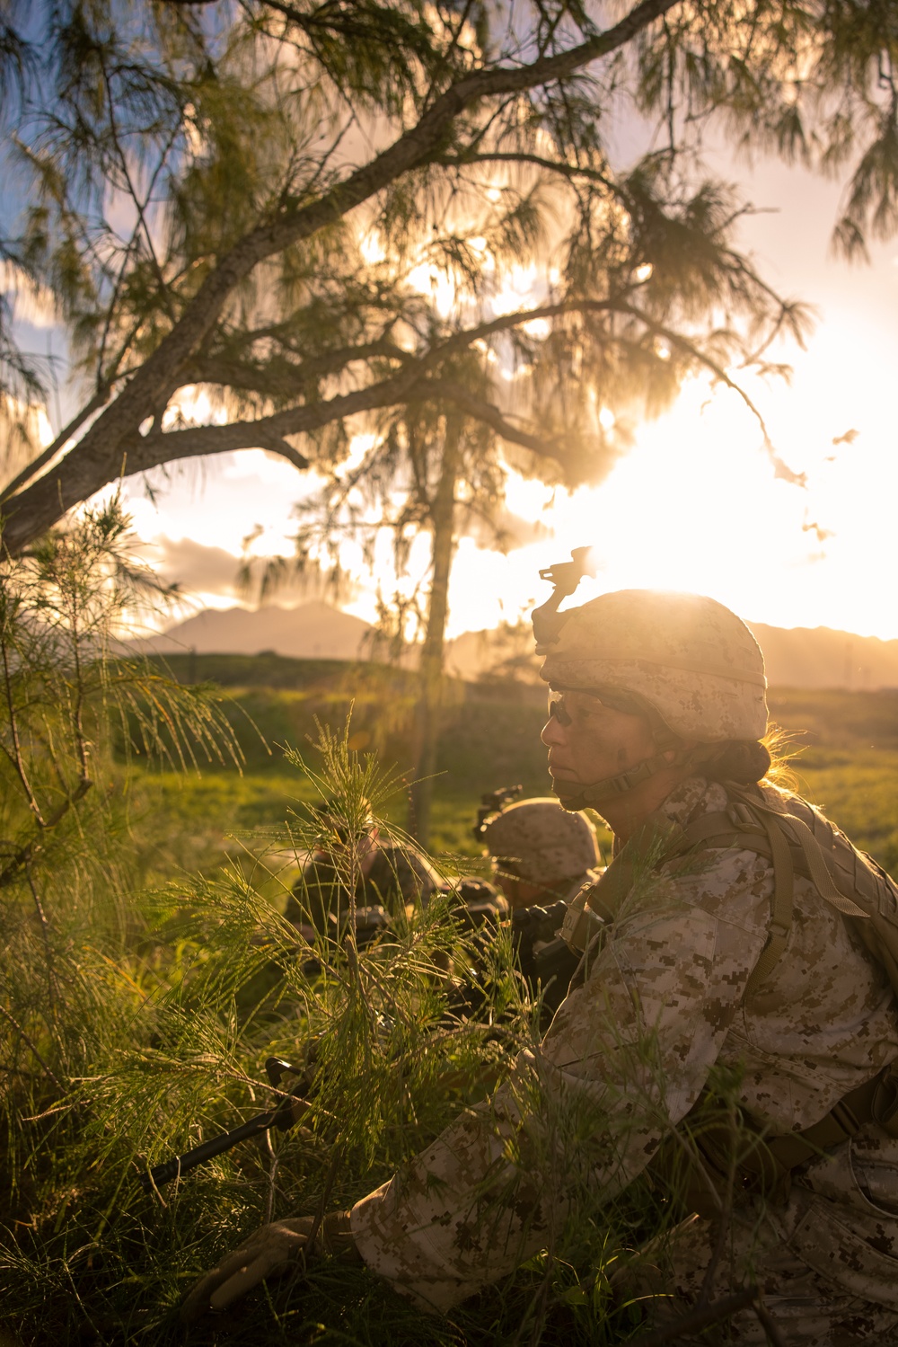
[[[253, 446], [302, 470], [412, 401], [452, 404], [552, 473], [600, 469], [599, 407], [657, 407], [696, 368], [767, 368], [770, 338], [802, 330], [732, 245], [742, 207], [701, 176], [705, 124], [844, 172], [850, 253], [894, 228], [897, 24], [885, 0], [642, 0], [619, 18], [7, 0], [22, 210], [4, 218], [5, 290], [58, 306], [83, 388], [7, 485], [7, 548], [123, 470]], [[621, 170], [627, 100], [666, 143]], [[499, 313], [521, 263], [526, 302]], [[421, 275], [451, 287], [442, 315]], [[13, 338], [7, 303], [15, 411], [43, 372]], [[462, 352], [522, 361], [528, 396], [460, 385]], [[225, 424], [179, 418], [195, 385]]]

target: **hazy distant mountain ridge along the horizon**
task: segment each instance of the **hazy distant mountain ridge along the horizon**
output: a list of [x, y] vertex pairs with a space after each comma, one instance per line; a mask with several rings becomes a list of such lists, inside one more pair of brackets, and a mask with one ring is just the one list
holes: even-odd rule
[[[749, 624], [763, 649], [773, 687], [875, 691], [898, 687], [898, 640], [852, 636], [827, 626], [782, 628]], [[264, 651], [304, 660], [377, 657], [373, 628], [361, 617], [314, 601], [299, 607], [206, 609], [162, 636], [131, 643], [132, 649], [176, 655], [258, 655]], [[489, 678], [501, 671], [536, 682], [539, 663], [528, 629], [464, 632], [447, 647], [447, 668], [456, 678]], [[408, 661], [405, 661], [408, 663]]]

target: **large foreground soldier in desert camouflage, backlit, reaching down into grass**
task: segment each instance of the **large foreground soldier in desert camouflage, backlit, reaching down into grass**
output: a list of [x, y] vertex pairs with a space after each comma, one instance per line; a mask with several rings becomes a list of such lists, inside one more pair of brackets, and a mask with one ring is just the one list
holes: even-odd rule
[[[555, 792], [615, 832], [565, 921], [584, 958], [494, 1098], [316, 1247], [447, 1311], [685, 1156], [700, 1214], [669, 1241], [660, 1315], [757, 1285], [790, 1347], [898, 1342], [898, 888], [769, 780], [763, 660], [728, 609], [622, 591], [544, 610], [537, 637]], [[187, 1313], [310, 1230], [263, 1227]], [[727, 1334], [767, 1340], [751, 1308]]]

